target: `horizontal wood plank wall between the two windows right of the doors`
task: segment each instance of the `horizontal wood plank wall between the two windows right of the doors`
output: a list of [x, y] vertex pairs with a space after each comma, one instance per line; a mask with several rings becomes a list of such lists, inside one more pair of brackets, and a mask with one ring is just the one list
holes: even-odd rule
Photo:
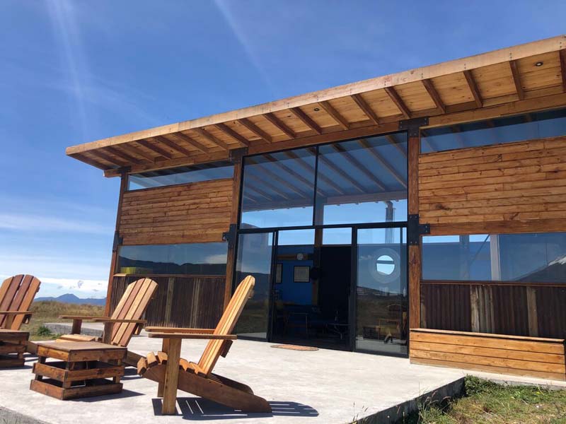
[[484, 231], [509, 223], [508, 232], [527, 223], [516, 228], [529, 231], [533, 220], [566, 230], [566, 137], [422, 154], [419, 189], [420, 220], [432, 234], [482, 229], [470, 223]]

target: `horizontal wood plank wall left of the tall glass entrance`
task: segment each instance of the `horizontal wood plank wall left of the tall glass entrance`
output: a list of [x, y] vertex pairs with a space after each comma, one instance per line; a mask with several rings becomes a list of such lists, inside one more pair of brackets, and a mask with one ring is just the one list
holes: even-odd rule
[[228, 231], [232, 179], [125, 192], [123, 245], [220, 242]]

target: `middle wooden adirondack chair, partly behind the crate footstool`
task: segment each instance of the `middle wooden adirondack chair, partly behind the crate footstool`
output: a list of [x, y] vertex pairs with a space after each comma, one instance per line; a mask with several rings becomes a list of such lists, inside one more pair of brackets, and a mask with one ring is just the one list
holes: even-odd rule
[[[146, 320], [141, 319], [141, 317], [144, 316], [156, 289], [157, 283], [150, 278], [140, 278], [129, 283], [111, 317], [61, 315], [59, 318], [73, 320], [72, 334], [61, 336], [57, 341], [102, 341], [113, 346], [127, 347], [132, 336], [139, 334], [139, 331], [146, 324]], [[103, 337], [81, 334], [83, 320], [103, 322]], [[124, 363], [135, 367], [140, 358], [142, 358], [141, 355], [128, 351]]]

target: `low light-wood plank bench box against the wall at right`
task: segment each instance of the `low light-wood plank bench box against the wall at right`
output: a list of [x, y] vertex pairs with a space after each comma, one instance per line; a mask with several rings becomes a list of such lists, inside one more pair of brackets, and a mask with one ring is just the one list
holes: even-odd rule
[[560, 338], [411, 329], [411, 363], [566, 379]]

